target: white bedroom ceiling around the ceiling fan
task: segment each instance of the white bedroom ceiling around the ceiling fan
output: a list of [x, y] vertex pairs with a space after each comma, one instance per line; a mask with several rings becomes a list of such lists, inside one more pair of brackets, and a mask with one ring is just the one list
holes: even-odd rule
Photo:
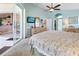
[[[54, 6], [57, 5], [59, 3], [54, 3]], [[61, 6], [58, 7], [61, 10], [79, 10], [79, 3], [60, 3]], [[50, 6], [50, 3], [34, 3], [34, 5], [44, 9], [44, 10], [48, 10], [48, 8], [46, 7], [47, 5]]]

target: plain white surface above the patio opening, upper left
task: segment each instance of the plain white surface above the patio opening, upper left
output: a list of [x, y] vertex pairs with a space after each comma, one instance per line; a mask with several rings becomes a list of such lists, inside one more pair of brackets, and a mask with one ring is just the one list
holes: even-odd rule
[[14, 9], [14, 3], [0, 3], [0, 13], [12, 13]]

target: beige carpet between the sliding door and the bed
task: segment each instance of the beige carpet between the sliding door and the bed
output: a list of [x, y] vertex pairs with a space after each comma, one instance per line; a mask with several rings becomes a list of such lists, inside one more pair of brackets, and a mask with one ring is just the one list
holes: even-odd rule
[[1, 56], [32, 56], [31, 46], [28, 41], [29, 38], [21, 40]]

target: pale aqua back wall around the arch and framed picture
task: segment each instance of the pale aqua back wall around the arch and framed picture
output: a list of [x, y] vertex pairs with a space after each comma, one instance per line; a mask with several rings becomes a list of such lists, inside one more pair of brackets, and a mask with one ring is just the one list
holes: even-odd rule
[[[73, 17], [73, 16], [78, 16], [78, 24], [73, 24], [76, 28], [79, 28], [79, 10], [66, 10], [66, 11], [54, 11], [49, 13], [49, 18], [52, 18], [53, 20], [55, 20], [55, 15], [57, 13], [61, 13], [63, 16], [62, 20], [65, 20], [68, 17]], [[59, 26], [60, 28], [62, 28], [61, 26]]]

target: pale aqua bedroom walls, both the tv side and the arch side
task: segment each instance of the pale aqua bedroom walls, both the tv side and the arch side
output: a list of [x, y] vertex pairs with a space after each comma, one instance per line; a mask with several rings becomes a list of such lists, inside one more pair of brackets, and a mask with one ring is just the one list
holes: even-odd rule
[[[48, 11], [45, 11], [45, 10], [43, 10], [42, 8], [40, 8], [40, 7], [38, 7], [38, 6], [36, 6], [36, 5], [34, 5], [34, 4], [32, 4], [32, 3], [27, 3], [27, 4], [22, 4], [24, 7], [25, 7], [25, 9], [26, 9], [26, 18], [28, 17], [28, 16], [33, 16], [33, 17], [36, 17], [36, 16], [38, 16], [38, 17], [40, 17], [41, 19], [48, 19], [48, 20], [50, 20], [51, 19], [51, 22], [52, 22], [52, 20], [54, 20], [55, 19], [55, 15], [57, 14], [57, 13], [61, 13], [62, 15], [63, 15], [63, 20], [65, 19], [65, 18], [67, 18], [67, 17], [71, 17], [71, 16], [79, 16], [79, 10], [66, 10], [66, 11], [63, 11], [63, 10], [60, 10], [60, 11], [54, 11], [54, 12], [48, 12]], [[50, 21], [49, 21], [50, 22]], [[30, 25], [32, 25], [32, 24], [27, 24], [26, 23], [26, 25], [27, 26], [30, 26]], [[50, 26], [49, 24], [48, 24], [48, 26]], [[78, 22], [78, 24], [77, 25], [75, 25], [76, 27], [79, 27], [79, 22]], [[53, 28], [53, 26], [51, 26], [52, 28]]]

